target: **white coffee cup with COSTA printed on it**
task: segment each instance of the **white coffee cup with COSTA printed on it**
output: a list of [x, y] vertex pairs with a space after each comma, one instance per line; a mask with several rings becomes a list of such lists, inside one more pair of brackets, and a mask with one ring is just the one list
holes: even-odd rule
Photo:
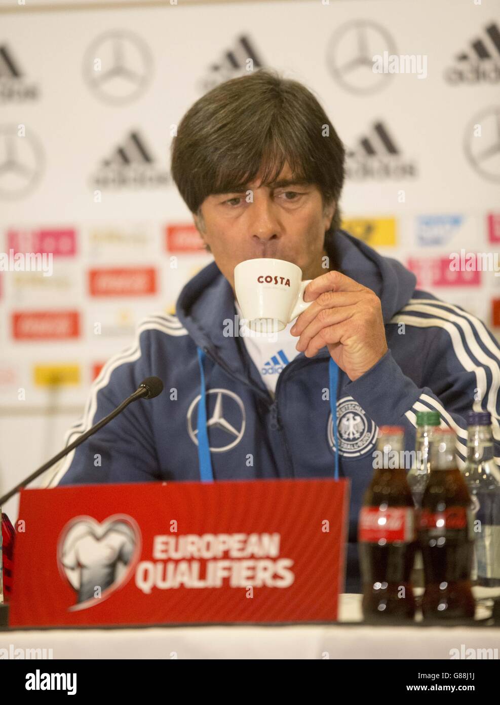
[[284, 259], [246, 259], [235, 266], [235, 290], [247, 326], [258, 333], [282, 331], [311, 306], [302, 270]]

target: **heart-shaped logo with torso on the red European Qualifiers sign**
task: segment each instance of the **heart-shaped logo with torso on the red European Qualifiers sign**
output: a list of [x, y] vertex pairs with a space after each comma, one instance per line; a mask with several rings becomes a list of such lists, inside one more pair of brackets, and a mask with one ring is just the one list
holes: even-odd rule
[[76, 596], [69, 609], [93, 607], [127, 584], [141, 552], [139, 525], [128, 515], [115, 514], [100, 524], [88, 516], [70, 520], [57, 543], [59, 572]]

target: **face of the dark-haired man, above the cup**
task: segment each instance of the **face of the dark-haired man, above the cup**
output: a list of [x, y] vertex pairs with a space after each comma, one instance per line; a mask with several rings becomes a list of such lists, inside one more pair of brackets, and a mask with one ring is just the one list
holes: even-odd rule
[[[282, 183], [283, 181], [287, 183]], [[235, 290], [234, 270], [239, 262], [256, 257], [275, 257], [299, 266], [304, 279], [324, 274], [325, 231], [335, 205], [323, 211], [321, 192], [313, 184], [293, 183], [287, 164], [273, 188], [260, 179], [246, 188], [208, 196], [201, 204], [203, 223], [194, 221], [209, 245], [220, 271]], [[247, 202], [247, 192], [253, 202]]]

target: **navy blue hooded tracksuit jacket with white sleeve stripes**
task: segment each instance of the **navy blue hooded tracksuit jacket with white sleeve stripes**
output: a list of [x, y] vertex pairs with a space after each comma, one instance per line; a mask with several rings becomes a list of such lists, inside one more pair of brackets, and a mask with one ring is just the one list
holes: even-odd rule
[[[227, 336], [236, 316], [234, 298], [212, 262], [182, 289], [176, 316], [162, 313], [142, 321], [135, 344], [104, 365], [66, 443], [111, 412], [145, 377], [159, 376], [165, 391], [133, 403], [70, 453], [49, 486], [197, 481], [211, 475], [334, 477], [338, 444], [339, 476], [351, 481], [346, 591], [358, 591], [357, 517], [373, 474], [377, 428], [404, 426], [406, 450], [413, 450], [415, 413], [437, 410], [442, 424], [458, 434], [458, 455], [465, 458], [464, 414], [487, 410], [500, 456], [500, 347], [475, 316], [415, 290], [415, 276], [395, 259], [345, 231], [325, 245], [335, 269], [382, 302], [389, 350], [374, 367], [350, 381], [329, 364], [326, 347], [311, 359], [300, 353], [280, 374], [273, 400], [242, 338]], [[336, 405], [325, 394], [332, 367], [338, 374], [331, 387], [337, 386]], [[100, 465], [94, 462], [98, 455]]]

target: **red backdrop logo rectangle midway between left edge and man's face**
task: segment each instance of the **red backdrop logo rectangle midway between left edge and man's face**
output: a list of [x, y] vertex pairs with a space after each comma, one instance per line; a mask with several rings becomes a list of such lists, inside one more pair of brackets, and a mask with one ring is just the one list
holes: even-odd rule
[[156, 269], [124, 267], [121, 269], [91, 269], [91, 296], [145, 296], [156, 293]]

